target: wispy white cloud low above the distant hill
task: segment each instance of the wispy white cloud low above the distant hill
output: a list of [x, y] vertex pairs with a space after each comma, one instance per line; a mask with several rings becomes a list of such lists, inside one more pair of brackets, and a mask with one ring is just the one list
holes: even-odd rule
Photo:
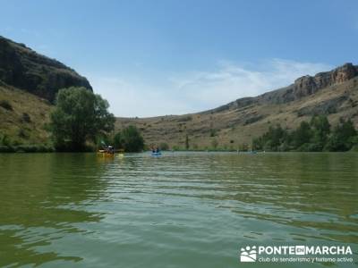
[[87, 77], [95, 91], [107, 98], [116, 116], [133, 117], [199, 112], [282, 88], [300, 76], [331, 68], [323, 63], [273, 59], [255, 65], [221, 62], [214, 71], [175, 73], [160, 82], [144, 83], [138, 77]]

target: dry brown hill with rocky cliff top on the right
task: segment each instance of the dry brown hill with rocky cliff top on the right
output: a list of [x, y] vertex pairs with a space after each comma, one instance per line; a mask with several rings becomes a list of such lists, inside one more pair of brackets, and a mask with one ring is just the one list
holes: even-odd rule
[[358, 67], [346, 63], [332, 71], [303, 76], [286, 88], [260, 96], [244, 97], [215, 109], [184, 115], [152, 118], [118, 118], [116, 129], [134, 124], [148, 144], [166, 142], [169, 147], [217, 147], [236, 149], [251, 144], [270, 125], [287, 130], [314, 114], [326, 114], [332, 124], [351, 119], [358, 127]]

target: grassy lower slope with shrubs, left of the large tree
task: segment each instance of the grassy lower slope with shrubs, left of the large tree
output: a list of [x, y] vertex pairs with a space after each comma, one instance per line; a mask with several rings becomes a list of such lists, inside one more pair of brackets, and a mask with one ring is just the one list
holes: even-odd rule
[[14, 144], [47, 144], [48, 101], [0, 82], [0, 135]]

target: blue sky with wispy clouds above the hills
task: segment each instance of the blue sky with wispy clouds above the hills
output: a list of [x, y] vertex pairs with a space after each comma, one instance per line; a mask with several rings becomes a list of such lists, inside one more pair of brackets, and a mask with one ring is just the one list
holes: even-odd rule
[[358, 64], [358, 1], [0, 0], [0, 35], [86, 76], [117, 116], [192, 113]]

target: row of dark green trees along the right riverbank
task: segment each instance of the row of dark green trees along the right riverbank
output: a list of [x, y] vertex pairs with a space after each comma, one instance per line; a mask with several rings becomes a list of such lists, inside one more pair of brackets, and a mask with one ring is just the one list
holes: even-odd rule
[[293, 131], [282, 129], [278, 124], [270, 127], [259, 138], [253, 138], [252, 150], [345, 152], [358, 147], [357, 130], [352, 121], [340, 120], [331, 131], [326, 116], [313, 116], [310, 122], [302, 121]]

